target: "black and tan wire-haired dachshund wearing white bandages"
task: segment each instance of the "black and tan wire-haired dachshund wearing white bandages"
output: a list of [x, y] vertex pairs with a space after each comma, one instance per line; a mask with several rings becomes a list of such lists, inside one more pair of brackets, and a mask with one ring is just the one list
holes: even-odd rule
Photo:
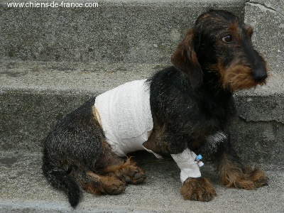
[[127, 153], [171, 156], [180, 167], [185, 200], [208, 202], [214, 187], [200, 173], [201, 153], [226, 187], [268, 184], [259, 168], [241, 163], [231, 146], [233, 92], [266, 84], [268, 65], [251, 42], [253, 28], [229, 11], [202, 13], [173, 53], [173, 66], [128, 82], [67, 114], [43, 148], [43, 174], [72, 207], [82, 190], [117, 195], [146, 179]]

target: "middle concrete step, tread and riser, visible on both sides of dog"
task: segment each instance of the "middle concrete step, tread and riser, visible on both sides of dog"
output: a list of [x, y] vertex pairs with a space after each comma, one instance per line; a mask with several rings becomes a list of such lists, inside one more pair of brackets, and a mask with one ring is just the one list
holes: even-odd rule
[[[1, 61], [1, 150], [41, 151], [48, 131], [67, 112], [89, 97], [149, 77], [165, 66]], [[275, 73], [266, 86], [235, 95], [239, 114], [231, 127], [232, 138], [249, 162], [284, 162], [283, 80]]]

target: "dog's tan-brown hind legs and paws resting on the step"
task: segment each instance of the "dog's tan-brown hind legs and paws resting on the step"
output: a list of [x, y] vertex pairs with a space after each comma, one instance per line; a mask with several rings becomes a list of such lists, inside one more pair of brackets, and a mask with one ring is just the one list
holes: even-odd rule
[[84, 168], [72, 168], [70, 175], [83, 190], [93, 195], [118, 195], [124, 192], [126, 184], [140, 184], [146, 178], [143, 170], [130, 158], [123, 160], [109, 148], [103, 151], [99, 160], [101, 168], [94, 172]]

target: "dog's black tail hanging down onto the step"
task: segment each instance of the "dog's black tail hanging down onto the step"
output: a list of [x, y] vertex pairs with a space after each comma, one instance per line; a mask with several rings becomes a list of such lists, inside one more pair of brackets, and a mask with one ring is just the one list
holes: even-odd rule
[[71, 206], [75, 208], [82, 197], [80, 185], [68, 171], [53, 165], [45, 153], [43, 154], [43, 174], [53, 187], [63, 190], [67, 194]]

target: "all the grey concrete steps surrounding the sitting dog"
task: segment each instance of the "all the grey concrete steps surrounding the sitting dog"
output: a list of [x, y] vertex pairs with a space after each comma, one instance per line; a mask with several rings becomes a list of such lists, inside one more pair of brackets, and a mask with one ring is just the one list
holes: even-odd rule
[[[0, 1], [0, 212], [284, 211], [283, 1], [105, 0], [89, 9], [16, 9], [6, 3]], [[133, 153], [146, 170], [145, 184], [119, 196], [84, 193], [73, 210], [41, 173], [48, 131], [89, 97], [167, 66], [187, 28], [207, 9], [243, 17], [255, 28], [256, 48], [268, 58], [268, 84], [235, 94], [239, 113], [231, 132], [241, 158], [266, 170], [269, 185], [225, 189], [205, 163], [202, 175], [212, 180], [218, 197], [184, 201], [173, 161]]]

